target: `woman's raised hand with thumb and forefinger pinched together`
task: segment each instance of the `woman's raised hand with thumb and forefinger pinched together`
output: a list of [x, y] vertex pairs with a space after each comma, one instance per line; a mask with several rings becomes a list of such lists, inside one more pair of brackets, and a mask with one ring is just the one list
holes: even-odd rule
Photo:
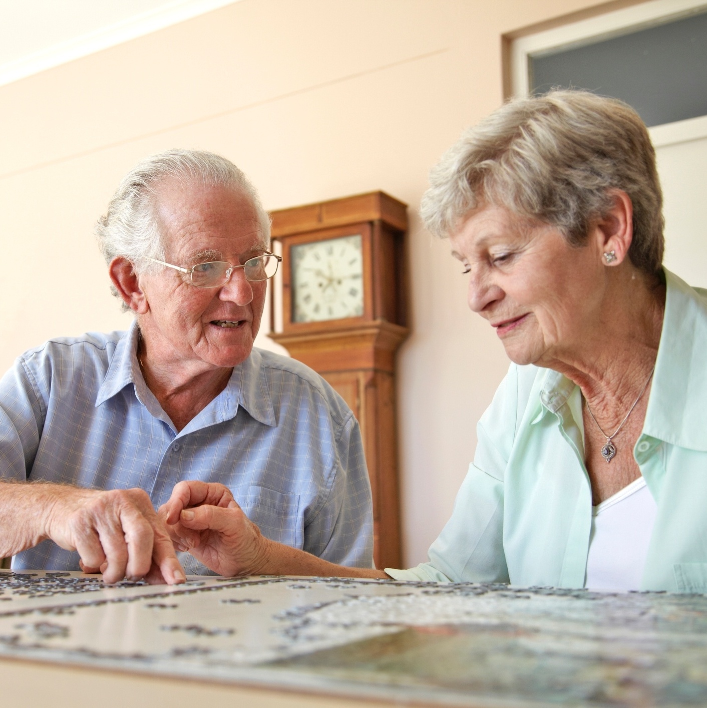
[[267, 539], [217, 482], [182, 481], [158, 511], [175, 547], [223, 576], [265, 572]]

